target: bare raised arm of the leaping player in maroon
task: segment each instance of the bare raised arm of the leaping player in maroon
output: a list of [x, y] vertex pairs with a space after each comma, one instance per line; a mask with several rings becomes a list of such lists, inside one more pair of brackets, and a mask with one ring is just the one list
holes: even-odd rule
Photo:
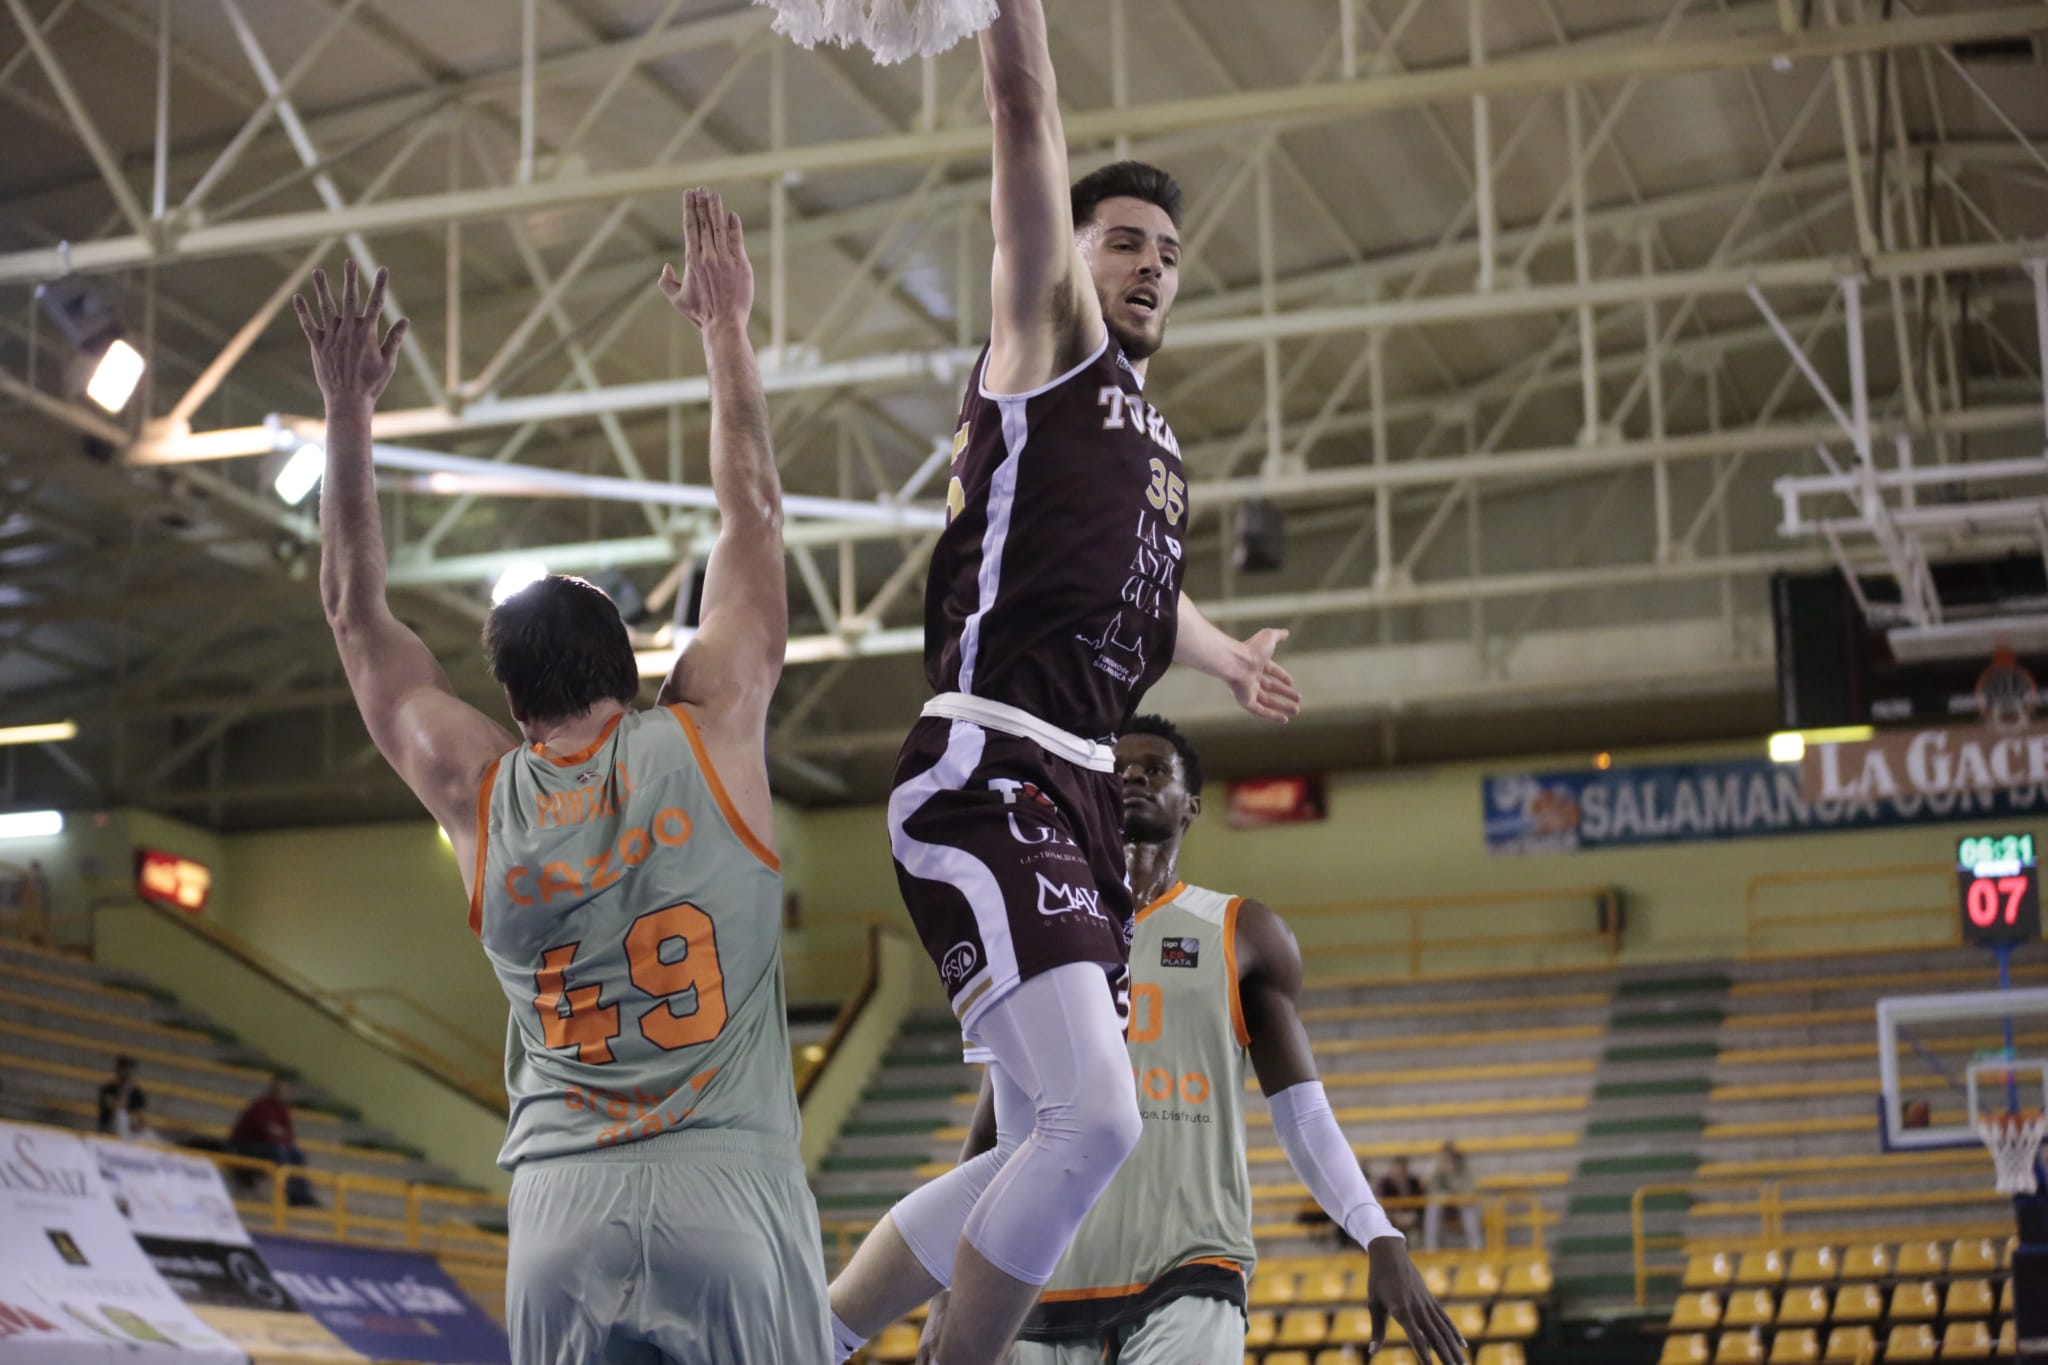
[[1102, 305], [1073, 244], [1067, 133], [1042, 0], [1001, 0], [981, 35], [981, 90], [995, 125], [993, 393], [1026, 393], [1102, 342]]

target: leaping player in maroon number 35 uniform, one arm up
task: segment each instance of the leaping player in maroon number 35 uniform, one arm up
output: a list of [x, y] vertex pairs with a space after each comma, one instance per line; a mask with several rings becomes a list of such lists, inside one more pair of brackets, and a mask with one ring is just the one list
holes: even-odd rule
[[840, 1359], [952, 1287], [934, 1359], [995, 1365], [1137, 1144], [1122, 1042], [1130, 890], [1110, 739], [1184, 663], [1255, 716], [1300, 708], [1284, 630], [1182, 596], [1188, 477], [1145, 370], [1180, 291], [1180, 188], [1067, 182], [1040, 0], [981, 35], [995, 125], [991, 338], [961, 403], [926, 585], [934, 696], [889, 837], [918, 933], [989, 1060], [995, 1150], [907, 1195], [831, 1289]]

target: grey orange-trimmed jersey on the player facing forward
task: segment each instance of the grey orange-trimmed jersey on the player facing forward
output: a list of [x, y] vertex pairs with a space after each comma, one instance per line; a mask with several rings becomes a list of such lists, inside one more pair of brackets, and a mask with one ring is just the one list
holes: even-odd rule
[[1028, 1338], [1094, 1334], [1186, 1293], [1245, 1302], [1255, 1248], [1237, 907], [1180, 884], [1137, 915], [1128, 1050], [1143, 1136], [1047, 1283]]

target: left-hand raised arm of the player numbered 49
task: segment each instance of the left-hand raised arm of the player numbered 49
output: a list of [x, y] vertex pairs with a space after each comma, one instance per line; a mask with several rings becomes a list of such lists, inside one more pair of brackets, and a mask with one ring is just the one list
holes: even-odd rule
[[313, 299], [293, 297], [328, 403], [328, 473], [319, 489], [319, 602], [377, 751], [449, 831], [463, 878], [477, 839], [477, 784], [516, 739], [455, 696], [449, 675], [385, 600], [383, 518], [371, 469], [371, 413], [391, 383], [406, 319], [379, 338], [385, 272], [362, 299], [356, 264], [342, 266], [342, 299], [313, 272]]

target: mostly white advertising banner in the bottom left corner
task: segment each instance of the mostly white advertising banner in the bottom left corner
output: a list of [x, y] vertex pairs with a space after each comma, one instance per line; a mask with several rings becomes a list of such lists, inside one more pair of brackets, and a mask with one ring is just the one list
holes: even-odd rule
[[248, 1357], [172, 1293], [82, 1138], [0, 1124], [0, 1359], [23, 1365]]

